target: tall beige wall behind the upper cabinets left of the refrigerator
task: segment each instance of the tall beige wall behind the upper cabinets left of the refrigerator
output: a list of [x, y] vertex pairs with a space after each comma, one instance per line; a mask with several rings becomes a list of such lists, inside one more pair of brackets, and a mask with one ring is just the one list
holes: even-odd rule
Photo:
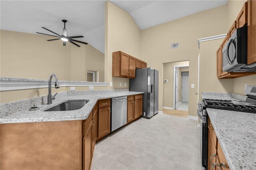
[[105, 80], [113, 82], [110, 88], [127, 88], [129, 79], [112, 77], [112, 52], [123, 51], [139, 58], [140, 29], [128, 12], [110, 1], [106, 1], [105, 5]]

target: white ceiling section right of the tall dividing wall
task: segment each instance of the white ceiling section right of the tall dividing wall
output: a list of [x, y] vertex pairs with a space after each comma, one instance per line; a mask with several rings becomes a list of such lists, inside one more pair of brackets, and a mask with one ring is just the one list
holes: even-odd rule
[[224, 5], [228, 0], [111, 0], [111, 2], [129, 12], [138, 27], [143, 30]]

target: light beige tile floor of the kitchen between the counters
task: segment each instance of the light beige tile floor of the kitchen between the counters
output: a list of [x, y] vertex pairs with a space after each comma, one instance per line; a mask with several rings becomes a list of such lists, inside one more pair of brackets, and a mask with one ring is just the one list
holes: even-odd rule
[[157, 114], [96, 144], [92, 170], [201, 170], [196, 120]]

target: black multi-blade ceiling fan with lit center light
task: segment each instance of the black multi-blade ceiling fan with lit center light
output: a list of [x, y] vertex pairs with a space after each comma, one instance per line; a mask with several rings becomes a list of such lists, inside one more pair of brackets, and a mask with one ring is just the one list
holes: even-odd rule
[[[52, 32], [53, 34], [57, 35], [57, 36], [53, 36], [53, 37], [58, 37], [56, 39], [51, 39], [51, 40], [47, 40], [48, 42], [50, 41], [55, 41], [55, 40], [62, 40], [63, 41], [63, 46], [66, 46], [66, 42], [70, 42], [78, 47], [80, 47], [80, 45], [78, 45], [77, 43], [74, 43], [74, 42], [78, 42], [78, 43], [83, 43], [83, 44], [88, 44], [86, 42], [81, 42], [81, 41], [78, 41], [78, 40], [74, 40], [73, 38], [83, 38], [84, 36], [70, 36], [68, 37], [67, 36], [67, 30], [66, 30], [66, 22], [67, 20], [62, 20], [62, 22], [64, 22], [64, 28], [63, 28], [63, 33], [62, 33], [62, 36], [51, 31], [51, 30], [48, 30], [47, 28], [44, 28], [44, 30], [47, 30], [47, 31], [50, 31]], [[52, 36], [52, 35], [49, 35], [49, 34], [44, 34], [44, 33], [40, 33], [40, 32], [36, 32], [37, 34], [43, 34], [43, 35], [46, 35], [46, 36]]]

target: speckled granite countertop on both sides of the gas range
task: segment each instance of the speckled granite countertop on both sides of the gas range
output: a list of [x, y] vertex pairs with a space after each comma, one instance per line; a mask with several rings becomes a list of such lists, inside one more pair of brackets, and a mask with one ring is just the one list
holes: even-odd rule
[[[245, 101], [230, 93], [202, 93], [205, 99]], [[231, 170], [256, 169], [256, 114], [206, 109]]]

